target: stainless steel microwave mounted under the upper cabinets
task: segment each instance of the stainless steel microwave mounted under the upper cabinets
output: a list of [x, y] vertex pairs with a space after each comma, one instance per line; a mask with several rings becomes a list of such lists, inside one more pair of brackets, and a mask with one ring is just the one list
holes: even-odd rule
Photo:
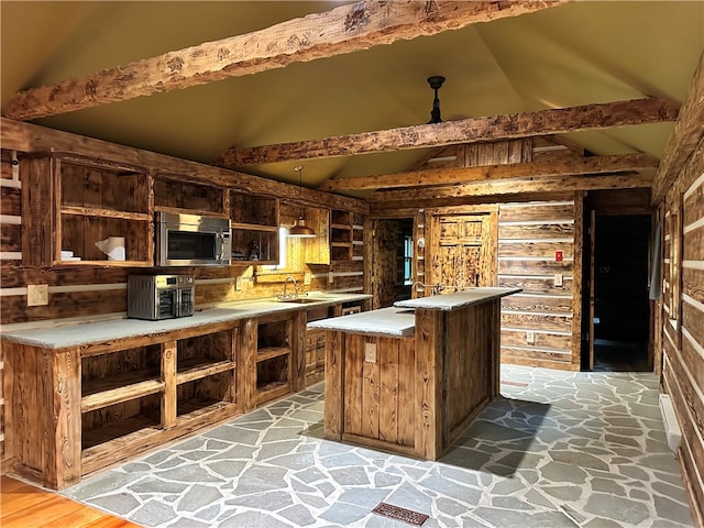
[[157, 266], [230, 264], [230, 219], [201, 215], [156, 213]]

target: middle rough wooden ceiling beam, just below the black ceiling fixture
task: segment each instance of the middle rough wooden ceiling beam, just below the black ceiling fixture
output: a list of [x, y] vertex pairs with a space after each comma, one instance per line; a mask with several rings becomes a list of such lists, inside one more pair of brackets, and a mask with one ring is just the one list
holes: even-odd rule
[[463, 119], [435, 124], [296, 141], [249, 148], [228, 148], [219, 165], [241, 167], [290, 160], [370, 154], [481, 141], [516, 140], [630, 124], [674, 121], [679, 105], [657, 98], [585, 105], [508, 116]]

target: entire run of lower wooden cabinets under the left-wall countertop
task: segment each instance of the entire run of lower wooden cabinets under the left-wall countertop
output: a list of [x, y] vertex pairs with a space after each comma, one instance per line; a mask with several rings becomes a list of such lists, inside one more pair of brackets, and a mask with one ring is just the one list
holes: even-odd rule
[[323, 380], [326, 334], [309, 307], [64, 349], [2, 341], [4, 459], [62, 490], [165, 442]]

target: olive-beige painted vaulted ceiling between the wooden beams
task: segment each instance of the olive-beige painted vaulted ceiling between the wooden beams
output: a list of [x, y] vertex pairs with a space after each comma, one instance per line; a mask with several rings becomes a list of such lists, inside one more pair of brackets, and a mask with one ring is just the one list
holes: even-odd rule
[[[333, 9], [333, 1], [0, 2], [1, 103], [19, 90]], [[704, 1], [579, 1], [332, 58], [40, 119], [37, 124], [215, 163], [246, 147], [654, 96], [682, 102], [704, 51]], [[660, 157], [672, 123], [565, 138]], [[396, 173], [424, 150], [242, 167], [305, 185]]]

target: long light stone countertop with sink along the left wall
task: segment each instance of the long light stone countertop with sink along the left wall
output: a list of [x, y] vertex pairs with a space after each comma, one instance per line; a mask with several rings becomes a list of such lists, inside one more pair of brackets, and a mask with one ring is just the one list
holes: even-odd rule
[[57, 326], [51, 327], [3, 331], [1, 337], [2, 340], [14, 343], [29, 344], [43, 349], [64, 349], [87, 345], [95, 342], [169, 332], [185, 328], [196, 328], [216, 322], [237, 321], [239, 319], [249, 319], [270, 314], [285, 314], [341, 302], [364, 300], [369, 299], [371, 295], [328, 294], [321, 292], [311, 293], [305, 297], [320, 299], [320, 301], [314, 304], [295, 304], [279, 302], [273, 299], [241, 300], [219, 305], [216, 308], [208, 308], [202, 311], [196, 311], [193, 316], [177, 319], [146, 321], [142, 319], [118, 318], [95, 322], [58, 323]]

